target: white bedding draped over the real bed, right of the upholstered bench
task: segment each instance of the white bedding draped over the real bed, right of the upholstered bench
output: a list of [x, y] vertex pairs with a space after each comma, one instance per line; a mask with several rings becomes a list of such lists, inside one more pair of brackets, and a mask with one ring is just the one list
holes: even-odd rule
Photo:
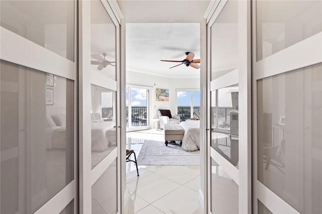
[[180, 123], [185, 130], [182, 149], [192, 152], [200, 149], [200, 121], [188, 120]]

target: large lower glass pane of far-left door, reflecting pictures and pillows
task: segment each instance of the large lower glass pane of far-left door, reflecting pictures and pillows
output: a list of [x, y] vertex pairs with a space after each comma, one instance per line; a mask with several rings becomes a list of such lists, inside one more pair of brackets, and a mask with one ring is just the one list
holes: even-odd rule
[[74, 179], [74, 82], [1, 60], [1, 213], [32, 213]]

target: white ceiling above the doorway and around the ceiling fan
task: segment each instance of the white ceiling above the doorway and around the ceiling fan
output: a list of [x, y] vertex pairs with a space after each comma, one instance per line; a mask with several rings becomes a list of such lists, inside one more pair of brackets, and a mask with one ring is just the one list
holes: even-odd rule
[[200, 22], [210, 1], [117, 1], [126, 24], [127, 71], [199, 77], [200, 69], [162, 62], [200, 59]]

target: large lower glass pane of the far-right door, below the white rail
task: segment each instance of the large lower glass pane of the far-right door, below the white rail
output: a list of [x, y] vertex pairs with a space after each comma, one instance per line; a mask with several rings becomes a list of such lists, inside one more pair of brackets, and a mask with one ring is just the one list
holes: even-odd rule
[[322, 63], [257, 81], [258, 180], [301, 213], [322, 212]]

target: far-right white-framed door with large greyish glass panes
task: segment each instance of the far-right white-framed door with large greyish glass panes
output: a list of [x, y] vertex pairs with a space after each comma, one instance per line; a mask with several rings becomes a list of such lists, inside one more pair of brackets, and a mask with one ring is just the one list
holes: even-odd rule
[[321, 213], [322, 3], [252, 7], [254, 211]]

